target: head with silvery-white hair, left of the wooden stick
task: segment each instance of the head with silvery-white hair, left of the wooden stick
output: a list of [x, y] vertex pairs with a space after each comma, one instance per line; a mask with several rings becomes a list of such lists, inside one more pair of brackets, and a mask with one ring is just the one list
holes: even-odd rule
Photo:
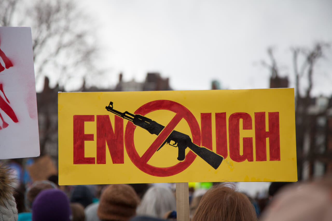
[[162, 218], [168, 211], [176, 210], [176, 200], [168, 186], [150, 187], [137, 208], [137, 214]]

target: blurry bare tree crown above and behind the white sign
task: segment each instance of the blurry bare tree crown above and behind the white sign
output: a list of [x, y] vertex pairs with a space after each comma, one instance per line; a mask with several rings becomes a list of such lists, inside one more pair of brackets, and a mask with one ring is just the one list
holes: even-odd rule
[[[0, 25], [15, 26], [16, 22], [31, 27], [36, 81], [48, 76], [63, 87], [68, 76], [83, 80], [87, 74], [99, 73], [95, 64], [99, 49], [91, 19], [73, 1], [21, 0], [29, 3], [27, 7], [18, 5], [19, 1], [0, 0]], [[23, 16], [16, 6], [23, 7]]]

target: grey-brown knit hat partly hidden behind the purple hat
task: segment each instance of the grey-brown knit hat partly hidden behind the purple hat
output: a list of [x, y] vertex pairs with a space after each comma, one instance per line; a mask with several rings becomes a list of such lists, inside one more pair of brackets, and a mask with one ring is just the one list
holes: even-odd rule
[[30, 211], [32, 203], [38, 193], [40, 193], [44, 189], [56, 189], [57, 186], [53, 182], [43, 180], [43, 181], [36, 181], [29, 187], [25, 192], [25, 206]]

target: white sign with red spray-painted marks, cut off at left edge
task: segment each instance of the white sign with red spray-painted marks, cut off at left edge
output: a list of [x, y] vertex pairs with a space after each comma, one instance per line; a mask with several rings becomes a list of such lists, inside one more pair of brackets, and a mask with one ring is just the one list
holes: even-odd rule
[[0, 159], [40, 155], [31, 28], [0, 27]]

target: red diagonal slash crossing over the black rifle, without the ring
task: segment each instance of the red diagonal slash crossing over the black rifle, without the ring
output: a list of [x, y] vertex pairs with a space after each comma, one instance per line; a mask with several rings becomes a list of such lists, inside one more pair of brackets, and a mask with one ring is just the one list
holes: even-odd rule
[[172, 133], [176, 125], [183, 118], [181, 113], [177, 113], [173, 119], [167, 124], [167, 126], [160, 132], [158, 137], [153, 141], [150, 147], [145, 151], [143, 156], [141, 157], [142, 163], [147, 163], [152, 155], [157, 151], [157, 149], [161, 146], [161, 144], [166, 140], [166, 138]]

